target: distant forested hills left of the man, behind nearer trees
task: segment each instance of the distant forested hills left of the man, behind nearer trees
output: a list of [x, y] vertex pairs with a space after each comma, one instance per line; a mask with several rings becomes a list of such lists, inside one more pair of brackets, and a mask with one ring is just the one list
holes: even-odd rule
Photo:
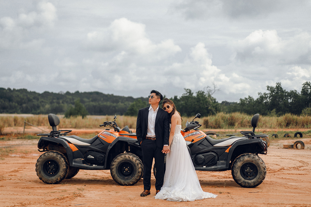
[[[147, 97], [140, 99], [148, 100]], [[136, 99], [101, 92], [37, 93], [27, 89], [0, 88], [0, 113], [65, 114], [72, 110], [77, 100], [90, 115], [123, 115]]]

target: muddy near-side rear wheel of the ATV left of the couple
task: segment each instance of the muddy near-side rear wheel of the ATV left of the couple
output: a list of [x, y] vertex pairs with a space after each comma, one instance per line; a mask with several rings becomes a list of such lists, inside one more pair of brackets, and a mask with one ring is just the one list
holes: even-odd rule
[[56, 184], [66, 178], [69, 164], [65, 155], [58, 151], [47, 151], [36, 163], [36, 172], [40, 180], [47, 184]]

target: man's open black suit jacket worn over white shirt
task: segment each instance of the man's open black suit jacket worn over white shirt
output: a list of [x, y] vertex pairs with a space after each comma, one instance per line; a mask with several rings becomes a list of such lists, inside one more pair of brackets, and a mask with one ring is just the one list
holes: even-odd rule
[[[148, 128], [149, 107], [140, 109], [137, 115], [136, 135], [140, 143], [146, 138]], [[169, 113], [159, 107], [155, 122], [156, 144], [159, 148], [169, 144]]]

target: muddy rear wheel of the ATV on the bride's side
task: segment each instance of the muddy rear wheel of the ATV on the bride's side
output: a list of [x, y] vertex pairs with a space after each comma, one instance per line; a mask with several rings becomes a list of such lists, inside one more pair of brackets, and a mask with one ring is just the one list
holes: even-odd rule
[[251, 188], [262, 183], [266, 178], [267, 168], [258, 155], [245, 153], [234, 160], [231, 174], [240, 186]]

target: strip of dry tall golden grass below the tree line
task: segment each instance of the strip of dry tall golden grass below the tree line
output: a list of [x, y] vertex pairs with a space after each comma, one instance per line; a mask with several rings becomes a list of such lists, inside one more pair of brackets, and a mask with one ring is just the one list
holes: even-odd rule
[[[104, 121], [112, 121], [114, 116], [87, 116], [60, 119], [59, 128], [99, 128]], [[186, 121], [192, 121], [194, 117], [182, 117], [182, 126], [185, 127]], [[203, 128], [251, 128], [250, 120], [252, 116], [242, 113], [218, 113], [217, 115], [195, 119], [199, 121]], [[0, 133], [4, 127], [23, 127], [24, 120], [35, 126], [49, 127], [47, 115], [22, 116], [0, 116]], [[129, 128], [136, 128], [136, 117], [117, 116], [116, 122], [120, 128], [128, 125]], [[286, 114], [280, 117], [260, 116], [258, 128], [311, 128], [310, 116], [297, 116]]]

